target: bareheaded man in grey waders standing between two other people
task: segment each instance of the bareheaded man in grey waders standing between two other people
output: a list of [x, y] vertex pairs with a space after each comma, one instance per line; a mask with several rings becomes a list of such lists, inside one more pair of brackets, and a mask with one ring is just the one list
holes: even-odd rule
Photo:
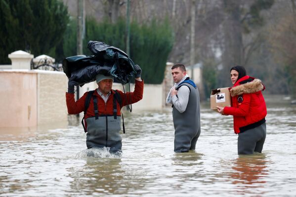
[[167, 103], [172, 104], [174, 152], [183, 153], [195, 150], [201, 133], [200, 97], [183, 64], [172, 66], [171, 75], [175, 84], [169, 91]]

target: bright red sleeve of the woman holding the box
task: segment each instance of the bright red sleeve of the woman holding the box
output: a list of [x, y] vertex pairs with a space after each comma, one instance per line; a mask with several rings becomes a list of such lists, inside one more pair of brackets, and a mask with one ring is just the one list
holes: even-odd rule
[[243, 102], [238, 107], [224, 107], [224, 114], [237, 117], [244, 117], [249, 113], [251, 94], [243, 94]]

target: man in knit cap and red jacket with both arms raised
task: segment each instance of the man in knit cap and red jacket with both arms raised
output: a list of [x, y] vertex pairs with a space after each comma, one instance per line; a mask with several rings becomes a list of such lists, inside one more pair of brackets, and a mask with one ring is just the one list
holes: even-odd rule
[[[68, 82], [66, 104], [69, 114], [79, 114], [85, 111], [86, 146], [90, 148], [109, 147], [111, 153], [122, 152], [121, 108], [136, 103], [143, 97], [144, 81], [141, 79], [141, 68], [134, 66], [135, 88], [133, 92], [124, 93], [113, 90], [113, 77], [98, 74], [96, 83], [98, 88], [85, 94], [75, 102], [74, 86], [79, 85], [75, 77]], [[89, 104], [85, 109], [85, 100]]]

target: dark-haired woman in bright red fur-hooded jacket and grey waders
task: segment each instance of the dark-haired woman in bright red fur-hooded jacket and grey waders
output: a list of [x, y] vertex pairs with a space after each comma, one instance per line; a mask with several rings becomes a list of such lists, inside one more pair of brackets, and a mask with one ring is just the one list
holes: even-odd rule
[[232, 67], [231, 107], [217, 107], [222, 115], [233, 116], [234, 132], [238, 134], [238, 154], [261, 153], [266, 137], [266, 104], [261, 93], [261, 80], [246, 75], [242, 66]]

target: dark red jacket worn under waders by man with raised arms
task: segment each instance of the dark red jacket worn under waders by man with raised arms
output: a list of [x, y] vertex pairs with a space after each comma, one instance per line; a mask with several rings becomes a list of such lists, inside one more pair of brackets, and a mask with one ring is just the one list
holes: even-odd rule
[[[143, 88], [144, 88], [144, 81], [138, 81], [135, 80], [135, 88], [133, 92], [127, 92], [126, 94], [120, 90], [117, 90], [117, 92], [120, 94], [122, 98], [122, 106], [126, 106], [132, 103], [136, 103], [143, 97]], [[97, 93], [97, 91], [94, 91], [93, 95], [97, 97], [98, 102], [98, 113], [100, 115], [113, 115], [113, 99], [114, 99], [114, 90], [111, 90], [111, 95], [109, 96], [107, 103], [105, 104], [103, 98]], [[78, 100], [75, 102], [74, 94], [73, 93], [66, 93], [66, 104], [68, 108], [69, 114], [79, 114], [85, 110], [85, 98], [86, 98], [87, 92]], [[120, 105], [117, 102], [117, 116], [120, 116]], [[94, 109], [93, 109], [93, 99], [89, 102], [89, 107], [86, 111], [85, 119], [89, 117], [94, 117]]]

